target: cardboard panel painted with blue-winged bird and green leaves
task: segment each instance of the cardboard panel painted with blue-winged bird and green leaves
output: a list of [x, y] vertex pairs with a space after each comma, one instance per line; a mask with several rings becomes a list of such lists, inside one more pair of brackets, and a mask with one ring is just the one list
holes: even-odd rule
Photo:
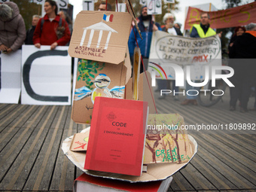
[[90, 123], [96, 96], [123, 99], [126, 71], [124, 62], [119, 65], [86, 59], [78, 62], [72, 120]]

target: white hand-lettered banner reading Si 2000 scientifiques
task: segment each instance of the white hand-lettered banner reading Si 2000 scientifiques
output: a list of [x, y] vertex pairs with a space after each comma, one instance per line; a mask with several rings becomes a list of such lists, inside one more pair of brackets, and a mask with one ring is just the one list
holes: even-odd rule
[[[174, 69], [170, 67], [175, 64], [181, 69], [190, 66], [191, 80], [203, 80], [206, 66], [221, 66], [221, 39], [218, 35], [185, 38], [157, 31], [152, 37], [149, 62], [162, 66], [168, 79], [175, 79]], [[152, 70], [149, 68], [149, 71]]]

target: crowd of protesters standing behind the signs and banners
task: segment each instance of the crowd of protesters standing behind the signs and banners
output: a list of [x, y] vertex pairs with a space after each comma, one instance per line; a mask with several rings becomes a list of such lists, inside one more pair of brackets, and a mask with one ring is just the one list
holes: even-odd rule
[[[34, 44], [40, 48], [41, 45], [50, 45], [54, 50], [57, 46], [69, 45], [72, 34], [72, 20], [65, 11], [58, 11], [58, 6], [53, 0], [44, 2], [44, 17], [32, 16], [31, 28], [26, 31], [23, 17], [20, 15], [18, 6], [14, 2], [0, 4], [0, 50], [2, 53], [11, 53], [21, 49], [23, 44]], [[111, 11], [111, 5], [102, 2], [98, 11]], [[163, 16], [164, 25], [154, 22], [152, 15], [148, 15], [147, 6], [143, 6], [138, 18], [139, 31], [134, 28], [130, 32], [128, 41], [131, 60], [133, 61], [134, 48], [139, 44], [145, 66], [148, 63], [150, 54], [151, 38], [154, 31], [160, 30], [168, 32], [170, 35], [182, 35], [181, 23], [175, 23], [173, 14], [167, 13]], [[216, 35], [214, 29], [210, 27], [209, 14], [203, 13], [200, 16], [200, 24], [194, 24], [190, 29], [191, 38], [206, 38]], [[218, 34], [221, 38], [221, 33]], [[230, 87], [230, 111], [236, 110], [236, 102], [239, 101], [240, 111], [248, 111], [248, 99], [251, 94], [251, 87], [254, 87], [256, 95], [256, 24], [251, 23], [246, 28], [238, 26], [234, 30], [228, 46], [230, 56], [230, 66], [234, 69], [234, 75], [230, 81], [235, 87]], [[246, 60], [244, 60], [246, 59]], [[146, 68], [145, 68], [146, 69]], [[141, 66], [141, 72], [145, 70]], [[197, 82], [197, 81], [196, 81]], [[170, 90], [171, 81], [158, 80], [158, 90]], [[175, 81], [172, 81], [172, 89], [178, 92]], [[186, 85], [186, 90], [198, 90], [199, 87]], [[186, 91], [187, 92], [187, 91]], [[159, 99], [164, 99], [165, 94]], [[178, 96], [175, 96], [178, 100]], [[197, 96], [188, 96], [181, 102], [181, 105], [197, 105]], [[256, 101], [254, 108], [256, 111]]]

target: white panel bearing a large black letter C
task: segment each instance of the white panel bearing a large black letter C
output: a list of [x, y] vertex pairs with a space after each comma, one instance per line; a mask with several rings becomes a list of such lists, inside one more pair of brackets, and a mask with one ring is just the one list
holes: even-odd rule
[[21, 103], [71, 104], [71, 57], [69, 47], [23, 45]]

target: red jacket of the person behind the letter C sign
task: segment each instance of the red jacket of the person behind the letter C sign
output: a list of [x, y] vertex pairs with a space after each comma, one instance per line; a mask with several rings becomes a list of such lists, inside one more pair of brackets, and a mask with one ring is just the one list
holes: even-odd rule
[[34, 44], [51, 45], [57, 42], [58, 45], [66, 45], [70, 41], [69, 25], [62, 19], [62, 26], [65, 26], [65, 32], [62, 38], [57, 38], [56, 29], [59, 27], [59, 15], [56, 15], [55, 19], [50, 22], [48, 15], [44, 15], [44, 24], [41, 31], [41, 20], [38, 21], [38, 25], [35, 28], [33, 42]]

